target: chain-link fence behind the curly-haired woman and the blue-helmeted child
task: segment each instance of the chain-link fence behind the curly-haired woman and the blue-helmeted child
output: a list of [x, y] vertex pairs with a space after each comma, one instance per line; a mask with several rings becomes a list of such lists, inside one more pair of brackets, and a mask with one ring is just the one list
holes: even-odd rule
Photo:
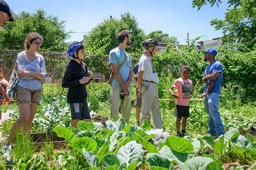
[[[9, 81], [12, 69], [15, 67], [15, 61], [18, 53], [17, 50], [0, 49], [0, 68], [3, 69], [4, 77]], [[47, 76], [43, 84], [43, 94], [57, 95], [66, 94], [66, 88], [62, 88], [62, 78], [70, 58], [65, 52], [40, 51], [39, 54], [44, 56]], [[90, 56], [85, 59], [90, 70], [95, 73], [94, 82], [105, 82], [109, 77], [110, 69], [108, 58], [103, 56]], [[93, 64], [95, 63], [95, 64]]]

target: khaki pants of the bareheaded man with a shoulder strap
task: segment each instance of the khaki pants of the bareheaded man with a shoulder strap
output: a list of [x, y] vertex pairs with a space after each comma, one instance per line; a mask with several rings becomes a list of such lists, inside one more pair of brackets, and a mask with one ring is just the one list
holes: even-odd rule
[[[114, 86], [111, 87], [110, 118], [113, 118], [117, 121], [119, 108], [121, 105], [122, 117], [125, 119], [127, 123], [129, 123], [129, 119], [131, 117], [131, 94], [129, 96], [125, 96], [124, 100], [121, 100], [119, 93], [122, 90], [122, 88]], [[130, 88], [128, 90], [131, 91]]]

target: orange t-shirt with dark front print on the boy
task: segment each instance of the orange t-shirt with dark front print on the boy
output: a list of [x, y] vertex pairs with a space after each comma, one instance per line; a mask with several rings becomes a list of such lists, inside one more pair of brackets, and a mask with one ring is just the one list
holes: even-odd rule
[[172, 87], [178, 90], [178, 96], [176, 105], [190, 105], [190, 95], [193, 82], [189, 79], [183, 79], [182, 77], [174, 81]]

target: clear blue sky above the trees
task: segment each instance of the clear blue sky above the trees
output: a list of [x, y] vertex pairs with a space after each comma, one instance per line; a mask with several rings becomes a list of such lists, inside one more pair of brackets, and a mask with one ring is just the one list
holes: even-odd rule
[[[201, 40], [221, 37], [222, 31], [215, 31], [210, 25], [213, 18], [223, 19], [228, 5], [219, 8], [205, 5], [199, 11], [192, 8], [192, 0], [5, 0], [15, 12], [35, 12], [41, 8], [49, 15], [65, 20], [67, 31], [89, 32], [104, 18], [120, 18], [120, 14], [130, 12], [137, 18], [139, 27], [146, 34], [162, 30], [169, 36], [177, 37], [185, 44], [187, 32], [189, 38], [201, 35]], [[71, 34], [70, 41], [82, 40], [84, 33]]]

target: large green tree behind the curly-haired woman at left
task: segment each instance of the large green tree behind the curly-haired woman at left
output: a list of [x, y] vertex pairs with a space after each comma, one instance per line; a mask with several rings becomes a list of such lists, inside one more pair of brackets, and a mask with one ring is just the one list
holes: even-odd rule
[[42, 9], [35, 13], [22, 11], [16, 15], [17, 22], [8, 22], [0, 30], [0, 49], [23, 49], [26, 35], [37, 32], [44, 38], [42, 49], [51, 51], [64, 51], [67, 47], [65, 42], [69, 33], [65, 31], [65, 22], [58, 17], [47, 15]]

